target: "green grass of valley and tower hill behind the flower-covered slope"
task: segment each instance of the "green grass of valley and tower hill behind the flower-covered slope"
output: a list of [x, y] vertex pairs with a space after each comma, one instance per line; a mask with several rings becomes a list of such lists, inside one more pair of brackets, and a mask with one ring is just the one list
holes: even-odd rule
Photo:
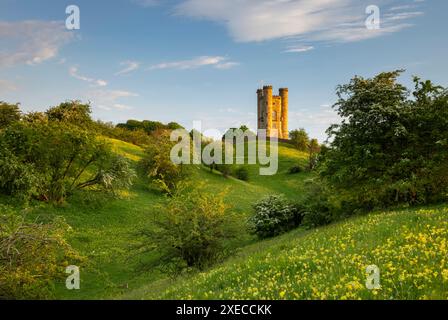
[[[135, 163], [143, 155], [143, 150], [135, 145], [109, 140], [116, 153]], [[280, 144], [278, 152], [279, 172], [276, 176], [259, 176], [258, 166], [250, 166], [250, 180], [244, 182], [224, 178], [220, 173], [210, 172], [205, 167], [195, 167], [191, 182], [202, 184], [208, 192], [226, 190], [226, 202], [244, 222], [251, 212], [252, 203], [267, 194], [282, 193], [290, 198], [297, 198], [301, 194], [309, 174], [290, 175], [287, 171], [298, 162], [306, 161], [306, 154], [288, 144]], [[86, 265], [81, 268], [81, 290], [68, 291], [65, 283], [57, 283], [57, 298], [108, 298], [139, 289], [148, 283], [165, 281], [166, 275], [157, 270], [138, 271], [142, 263], [149, 263], [156, 257], [136, 256], [130, 250], [135, 244], [136, 232], [154, 224], [156, 207], [163, 204], [164, 200], [163, 195], [137, 179], [122, 199], [103, 199], [82, 193], [69, 199], [63, 207], [42, 205], [35, 210], [33, 215], [41, 218], [63, 216], [73, 228], [70, 243], [87, 257]], [[241, 247], [255, 241], [246, 232], [234, 245]]]

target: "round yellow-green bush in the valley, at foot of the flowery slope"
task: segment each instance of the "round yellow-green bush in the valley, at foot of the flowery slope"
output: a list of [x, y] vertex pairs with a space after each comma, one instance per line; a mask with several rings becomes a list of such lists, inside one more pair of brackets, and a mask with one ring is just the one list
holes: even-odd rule
[[165, 270], [203, 269], [222, 258], [236, 236], [236, 219], [228, 209], [223, 194], [177, 194], [160, 207], [157, 229], [141, 233], [140, 250], [160, 254], [157, 263]]

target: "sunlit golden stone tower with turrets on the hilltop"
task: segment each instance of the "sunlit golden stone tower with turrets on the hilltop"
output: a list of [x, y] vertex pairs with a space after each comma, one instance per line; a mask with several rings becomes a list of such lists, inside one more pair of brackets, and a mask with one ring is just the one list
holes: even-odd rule
[[258, 98], [258, 130], [265, 129], [268, 137], [288, 139], [288, 89], [279, 90], [278, 96], [272, 95], [272, 86], [264, 86], [257, 90]]

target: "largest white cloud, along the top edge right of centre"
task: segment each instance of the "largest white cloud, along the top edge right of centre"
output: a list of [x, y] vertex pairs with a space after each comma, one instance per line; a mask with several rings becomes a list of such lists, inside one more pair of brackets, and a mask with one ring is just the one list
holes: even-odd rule
[[365, 10], [370, 4], [367, 0], [185, 0], [175, 12], [221, 23], [237, 42], [287, 37], [298, 38], [298, 43], [351, 42], [410, 26], [389, 17], [383, 19], [380, 30], [367, 30]]

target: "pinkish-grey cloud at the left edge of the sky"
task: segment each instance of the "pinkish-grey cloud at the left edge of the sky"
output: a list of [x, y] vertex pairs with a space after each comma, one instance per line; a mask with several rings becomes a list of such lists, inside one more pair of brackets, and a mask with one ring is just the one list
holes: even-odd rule
[[72, 38], [63, 22], [0, 21], [0, 68], [52, 59]]

